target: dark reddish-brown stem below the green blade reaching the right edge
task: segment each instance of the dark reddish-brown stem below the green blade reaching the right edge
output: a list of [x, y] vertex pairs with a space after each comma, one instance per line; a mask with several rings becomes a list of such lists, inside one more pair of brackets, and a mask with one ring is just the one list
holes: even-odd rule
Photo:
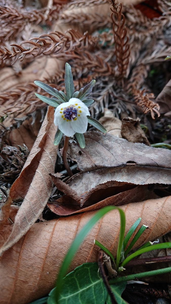
[[169, 263], [169, 262], [171, 262], [171, 255], [165, 257], [147, 257], [143, 259], [130, 261], [127, 264], [127, 267], [132, 267], [136, 265], [145, 265], [145, 264]]

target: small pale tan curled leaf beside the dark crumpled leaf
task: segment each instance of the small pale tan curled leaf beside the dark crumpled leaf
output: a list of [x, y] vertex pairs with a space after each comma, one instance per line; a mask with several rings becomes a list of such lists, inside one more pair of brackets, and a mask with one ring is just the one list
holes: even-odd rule
[[106, 128], [107, 133], [122, 137], [120, 134], [121, 121], [117, 117], [114, 117], [113, 112], [109, 109], [104, 109], [104, 116], [99, 119], [99, 122]]

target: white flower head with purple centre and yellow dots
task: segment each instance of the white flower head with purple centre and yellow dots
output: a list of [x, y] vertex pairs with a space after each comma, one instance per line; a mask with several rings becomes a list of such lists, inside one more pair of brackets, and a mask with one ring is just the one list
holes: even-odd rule
[[88, 126], [87, 116], [90, 116], [90, 112], [84, 102], [79, 98], [70, 98], [55, 109], [54, 125], [68, 137], [75, 133], [85, 133]]

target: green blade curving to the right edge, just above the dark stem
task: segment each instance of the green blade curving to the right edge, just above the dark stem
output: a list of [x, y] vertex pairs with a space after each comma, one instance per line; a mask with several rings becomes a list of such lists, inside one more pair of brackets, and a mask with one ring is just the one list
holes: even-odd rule
[[165, 248], [171, 248], [171, 242], [168, 243], [161, 243], [157, 245], [152, 245], [146, 248], [143, 248], [141, 250], [135, 251], [133, 254], [129, 255], [121, 264], [121, 266], [125, 266], [129, 261], [131, 261], [134, 257], [137, 257], [138, 255], [151, 251], [151, 250], [156, 250], [156, 249], [165, 249]]

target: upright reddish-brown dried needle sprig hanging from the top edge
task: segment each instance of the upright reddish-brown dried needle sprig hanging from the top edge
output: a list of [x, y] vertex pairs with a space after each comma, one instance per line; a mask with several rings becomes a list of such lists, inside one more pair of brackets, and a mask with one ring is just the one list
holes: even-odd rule
[[[129, 64], [130, 57], [130, 46], [129, 46], [129, 38], [127, 36], [127, 30], [124, 26], [125, 17], [122, 14], [122, 4], [120, 6], [116, 6], [115, 0], [111, 1], [113, 9], [112, 11], [112, 22], [113, 22], [113, 33], [114, 33], [114, 41], [115, 41], [115, 56], [117, 61], [119, 78], [123, 78], [127, 76], [127, 67]], [[117, 21], [115, 21], [114, 16], [116, 15]]]

